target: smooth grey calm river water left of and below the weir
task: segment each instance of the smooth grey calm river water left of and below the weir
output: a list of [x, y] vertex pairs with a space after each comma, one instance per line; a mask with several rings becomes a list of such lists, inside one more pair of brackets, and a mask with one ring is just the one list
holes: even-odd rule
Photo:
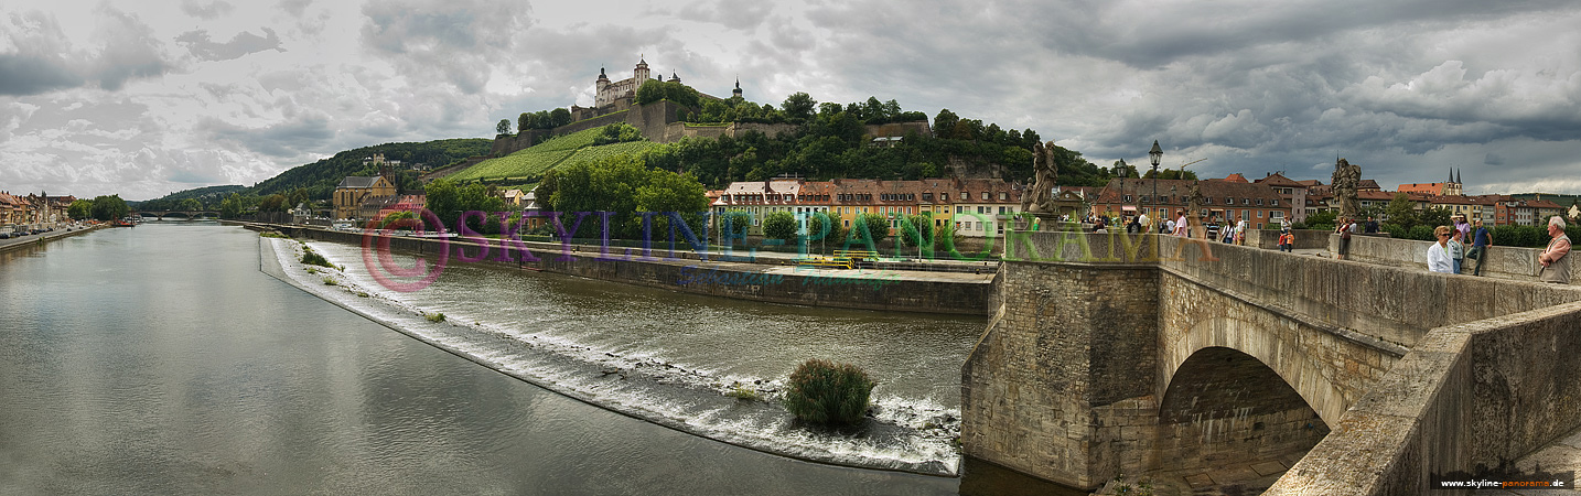
[[253, 232], [206, 223], [0, 254], [0, 494], [1045, 490], [974, 463], [964, 479], [926, 477], [685, 434], [479, 366], [258, 269]]

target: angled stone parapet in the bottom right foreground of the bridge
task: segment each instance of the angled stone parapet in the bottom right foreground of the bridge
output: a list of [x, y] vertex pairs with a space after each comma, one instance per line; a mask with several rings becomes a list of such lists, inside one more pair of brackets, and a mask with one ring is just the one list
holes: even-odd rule
[[1581, 426], [1578, 348], [1581, 303], [1434, 329], [1265, 494], [1428, 494], [1530, 453]]

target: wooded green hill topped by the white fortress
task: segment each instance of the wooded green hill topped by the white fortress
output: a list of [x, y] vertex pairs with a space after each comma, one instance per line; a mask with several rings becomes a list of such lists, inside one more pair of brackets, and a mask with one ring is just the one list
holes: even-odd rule
[[[174, 210], [175, 204], [194, 199], [206, 209], [217, 209], [218, 202], [231, 199], [245, 212], [272, 194], [280, 199], [270, 205], [285, 205], [281, 210], [300, 202], [326, 202], [341, 178], [379, 175], [373, 155], [394, 163], [383, 174], [400, 194], [421, 194], [435, 180], [495, 190], [545, 182], [552, 186], [558, 171], [598, 166], [620, 156], [647, 169], [683, 174], [707, 190], [773, 177], [1024, 182], [1032, 175], [1032, 144], [1043, 139], [1034, 130], [1007, 130], [949, 109], [930, 118], [877, 96], [841, 104], [797, 92], [768, 104], [743, 98], [741, 84], [735, 81], [730, 96], [719, 98], [683, 84], [677, 73], [670, 73], [669, 81], [653, 77], [647, 60], [639, 60], [632, 77], [621, 81], [610, 81], [599, 70], [594, 88], [593, 107], [522, 112], [515, 122], [498, 122], [493, 141], [364, 147], [248, 188], [198, 196], [183, 191], [139, 207]], [[1099, 167], [1075, 150], [1056, 145], [1050, 152], [1059, 167], [1059, 185], [1100, 186], [1121, 174], [1118, 164]], [[1135, 177], [1137, 171], [1127, 167], [1124, 172]], [[550, 201], [552, 194], [541, 191], [539, 201]]]

